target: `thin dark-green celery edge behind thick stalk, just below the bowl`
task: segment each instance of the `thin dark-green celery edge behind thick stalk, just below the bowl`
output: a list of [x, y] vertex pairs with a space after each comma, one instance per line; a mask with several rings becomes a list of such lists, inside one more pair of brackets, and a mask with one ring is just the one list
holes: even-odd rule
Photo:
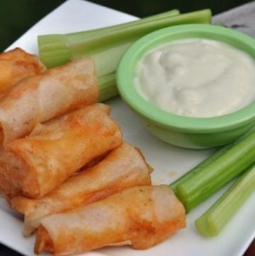
[[233, 143], [230, 143], [220, 148], [220, 150], [217, 150], [215, 153], [213, 153], [212, 155], [207, 157], [205, 160], [203, 160], [203, 162], [200, 162], [198, 165], [196, 165], [196, 167], [186, 172], [186, 174], [181, 176], [179, 179], [176, 179], [176, 181], [172, 182], [169, 186], [171, 187], [171, 189], [173, 189], [174, 193], [176, 193], [176, 188], [179, 186], [179, 184], [190, 179], [194, 174], [196, 174], [197, 172], [200, 172], [203, 168], [212, 164], [212, 162], [214, 162], [217, 158], [219, 158], [221, 155], [227, 152], [227, 150], [229, 150], [229, 148], [231, 148], [232, 145]]

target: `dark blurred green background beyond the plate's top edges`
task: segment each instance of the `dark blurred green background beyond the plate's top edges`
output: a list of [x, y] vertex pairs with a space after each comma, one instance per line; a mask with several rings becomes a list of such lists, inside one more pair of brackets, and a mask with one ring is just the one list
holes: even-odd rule
[[[0, 0], [0, 51], [64, 0]], [[179, 9], [181, 12], [210, 8], [213, 14], [232, 9], [247, 0], [92, 0], [92, 2], [144, 17]], [[70, 15], [75, 15], [70, 13]]]

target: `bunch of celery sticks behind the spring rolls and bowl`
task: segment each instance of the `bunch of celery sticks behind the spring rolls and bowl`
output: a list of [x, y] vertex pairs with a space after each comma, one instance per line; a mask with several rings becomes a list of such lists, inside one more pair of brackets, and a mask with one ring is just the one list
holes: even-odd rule
[[[40, 35], [38, 37], [40, 60], [47, 67], [55, 67], [74, 58], [92, 57], [96, 64], [101, 99], [110, 99], [116, 95], [115, 69], [120, 57], [135, 40], [167, 26], [210, 23], [209, 9], [178, 14], [179, 12], [174, 10], [108, 28], [66, 35]], [[102, 81], [107, 82], [101, 84]], [[107, 96], [103, 96], [103, 91], [107, 92]]]

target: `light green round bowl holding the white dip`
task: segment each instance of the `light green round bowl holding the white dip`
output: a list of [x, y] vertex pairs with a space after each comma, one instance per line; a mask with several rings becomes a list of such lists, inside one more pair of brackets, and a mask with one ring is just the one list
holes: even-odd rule
[[219, 40], [244, 50], [255, 59], [255, 40], [237, 30], [201, 24], [163, 28], [140, 38], [124, 53], [117, 69], [120, 96], [153, 135], [172, 145], [214, 148], [237, 140], [255, 124], [255, 101], [224, 116], [193, 118], [163, 111], [145, 101], [135, 89], [133, 78], [137, 61], [152, 48], [182, 38]]

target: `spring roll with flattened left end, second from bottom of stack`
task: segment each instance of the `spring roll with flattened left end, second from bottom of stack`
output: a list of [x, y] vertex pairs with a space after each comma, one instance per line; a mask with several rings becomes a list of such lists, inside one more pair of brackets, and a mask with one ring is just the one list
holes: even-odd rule
[[151, 184], [150, 172], [152, 167], [140, 151], [123, 143], [97, 165], [70, 177], [42, 199], [16, 196], [11, 207], [25, 215], [23, 234], [30, 235], [47, 215], [91, 204], [127, 187]]

